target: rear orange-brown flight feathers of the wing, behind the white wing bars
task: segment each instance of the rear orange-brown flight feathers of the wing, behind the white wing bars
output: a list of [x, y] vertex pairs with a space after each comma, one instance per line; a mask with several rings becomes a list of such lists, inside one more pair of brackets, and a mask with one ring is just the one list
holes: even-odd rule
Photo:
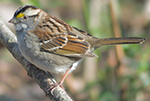
[[90, 44], [83, 38], [70, 32], [68, 33], [67, 38], [67, 44], [53, 53], [65, 56], [97, 57], [94, 53], [90, 52]]

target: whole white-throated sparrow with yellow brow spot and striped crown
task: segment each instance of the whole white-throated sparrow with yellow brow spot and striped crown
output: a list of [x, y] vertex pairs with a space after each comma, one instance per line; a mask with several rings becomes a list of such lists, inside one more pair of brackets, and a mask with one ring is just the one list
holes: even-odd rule
[[82, 58], [97, 57], [93, 53], [96, 48], [140, 44], [145, 40], [139, 37], [99, 39], [31, 5], [20, 7], [9, 22], [15, 25], [19, 50], [28, 61], [44, 71], [65, 73], [59, 85]]

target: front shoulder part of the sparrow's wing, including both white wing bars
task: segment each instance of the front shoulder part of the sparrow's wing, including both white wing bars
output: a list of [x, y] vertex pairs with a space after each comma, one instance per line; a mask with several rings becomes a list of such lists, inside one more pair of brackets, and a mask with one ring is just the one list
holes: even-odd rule
[[[55, 29], [55, 31], [53, 30]], [[55, 51], [67, 43], [67, 32], [56, 31], [51, 25], [37, 27], [32, 33], [39, 37], [42, 51]]]

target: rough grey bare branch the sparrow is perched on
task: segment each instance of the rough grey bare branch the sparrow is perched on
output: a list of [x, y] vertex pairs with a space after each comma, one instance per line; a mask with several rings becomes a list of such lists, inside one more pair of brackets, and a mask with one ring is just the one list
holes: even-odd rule
[[47, 90], [56, 81], [50, 74], [36, 68], [21, 55], [18, 49], [18, 43], [15, 34], [12, 33], [10, 29], [3, 23], [2, 18], [0, 18], [0, 41], [4, 44], [4, 46], [6, 46], [14, 58], [18, 60], [20, 64], [22, 64], [28, 75], [33, 78], [33, 80], [41, 87], [41, 89], [43, 89], [50, 100], [72, 101], [67, 93], [60, 87], [57, 87], [53, 91], [49, 91], [49, 93], [47, 93]]

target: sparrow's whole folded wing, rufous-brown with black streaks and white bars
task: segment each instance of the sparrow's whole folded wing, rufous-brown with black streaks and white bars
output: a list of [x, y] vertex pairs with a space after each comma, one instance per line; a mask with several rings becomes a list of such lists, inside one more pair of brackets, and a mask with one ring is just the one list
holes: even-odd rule
[[90, 50], [90, 44], [83, 37], [73, 33], [73, 27], [55, 17], [45, 22], [50, 24], [38, 26], [33, 31], [39, 37], [41, 51], [64, 56], [96, 57]]

